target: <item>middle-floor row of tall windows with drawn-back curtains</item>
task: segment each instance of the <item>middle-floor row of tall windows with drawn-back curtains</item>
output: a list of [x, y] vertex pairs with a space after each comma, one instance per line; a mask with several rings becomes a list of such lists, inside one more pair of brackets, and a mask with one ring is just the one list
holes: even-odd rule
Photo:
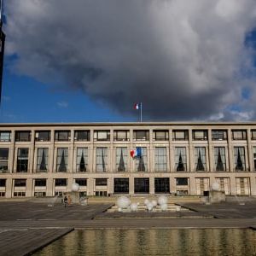
[[[214, 171], [225, 172], [228, 170], [226, 160], [226, 148], [214, 147]], [[236, 171], [247, 171], [246, 155], [244, 147], [234, 147], [234, 168]], [[107, 172], [108, 148], [96, 148], [96, 172]], [[68, 172], [68, 148], [57, 148], [56, 172]], [[129, 160], [128, 148], [115, 148], [114, 171], [127, 172]], [[186, 172], [189, 169], [187, 148], [174, 148], [175, 170]], [[148, 149], [142, 148], [142, 156], [136, 160], [137, 172], [148, 172]], [[18, 148], [16, 160], [16, 172], [28, 172], [29, 148]], [[166, 147], [154, 148], [154, 172], [167, 172], [168, 156]], [[207, 171], [207, 148], [195, 147], [194, 150], [195, 171]], [[256, 170], [256, 147], [253, 147], [253, 163]], [[89, 149], [77, 148], [75, 172], [89, 171]], [[0, 172], [9, 170], [9, 148], [0, 148]], [[49, 148], [37, 149], [37, 172], [49, 172]]]

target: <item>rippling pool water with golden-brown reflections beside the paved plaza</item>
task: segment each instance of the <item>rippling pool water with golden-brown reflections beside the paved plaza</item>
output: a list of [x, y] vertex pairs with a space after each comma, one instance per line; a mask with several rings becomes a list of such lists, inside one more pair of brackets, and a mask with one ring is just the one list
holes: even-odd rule
[[76, 230], [35, 255], [256, 255], [256, 232], [206, 230]]

